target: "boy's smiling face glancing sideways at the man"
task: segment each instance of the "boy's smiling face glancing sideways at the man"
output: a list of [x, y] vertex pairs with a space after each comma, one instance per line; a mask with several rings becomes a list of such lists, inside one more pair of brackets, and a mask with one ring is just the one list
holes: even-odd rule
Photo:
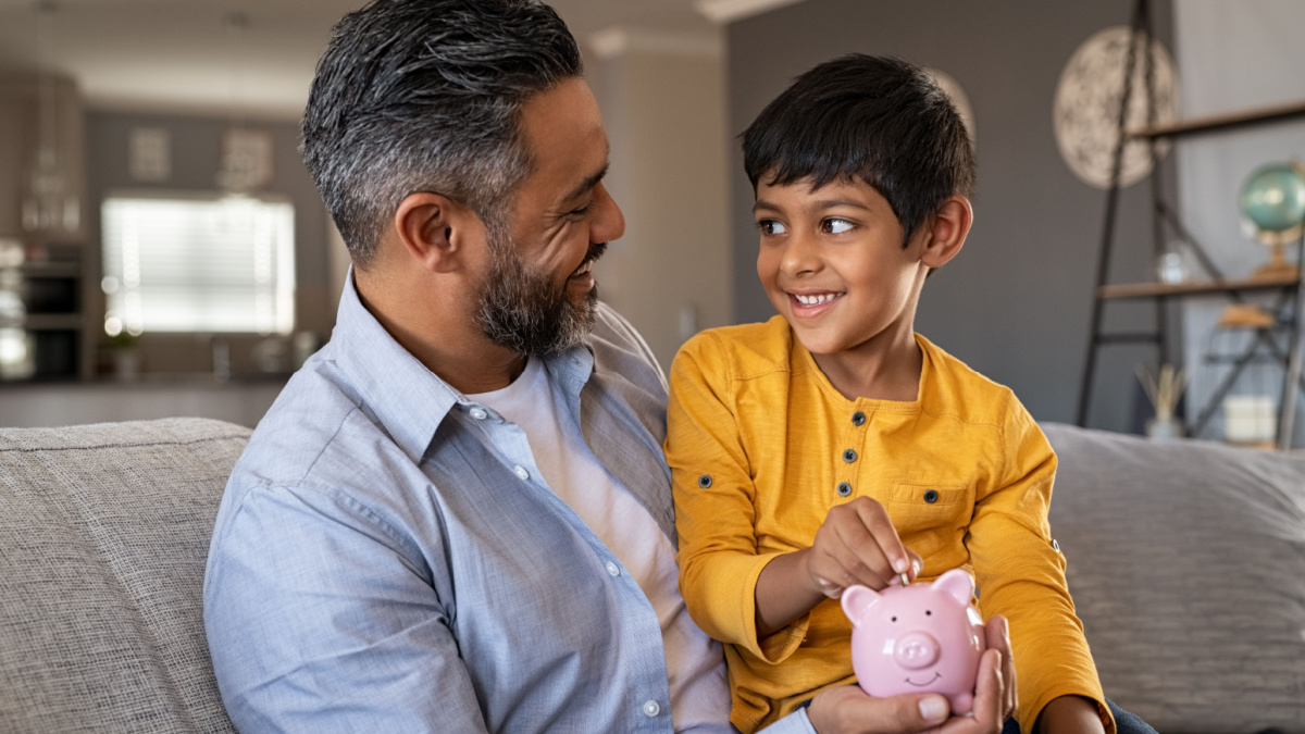
[[757, 274], [813, 354], [855, 350], [914, 329], [929, 227], [902, 247], [902, 223], [869, 185], [757, 185]]

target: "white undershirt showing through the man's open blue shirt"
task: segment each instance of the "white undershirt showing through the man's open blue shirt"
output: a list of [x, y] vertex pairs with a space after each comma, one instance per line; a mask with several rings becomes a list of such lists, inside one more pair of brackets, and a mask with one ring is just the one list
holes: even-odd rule
[[684, 607], [675, 549], [643, 504], [603, 469], [552, 384], [532, 358], [506, 388], [467, 396], [519, 426], [535, 465], [553, 492], [634, 576], [656, 611], [671, 687], [676, 731], [731, 731], [729, 690], [719, 643]]

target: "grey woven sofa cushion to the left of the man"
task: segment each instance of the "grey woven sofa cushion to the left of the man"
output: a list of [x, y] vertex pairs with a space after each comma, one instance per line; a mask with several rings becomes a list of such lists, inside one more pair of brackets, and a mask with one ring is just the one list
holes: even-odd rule
[[204, 564], [249, 430], [0, 430], [0, 731], [234, 731]]

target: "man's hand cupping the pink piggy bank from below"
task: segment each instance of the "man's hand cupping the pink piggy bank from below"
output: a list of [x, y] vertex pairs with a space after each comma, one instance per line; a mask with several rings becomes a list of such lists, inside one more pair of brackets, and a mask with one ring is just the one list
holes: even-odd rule
[[951, 716], [947, 699], [937, 694], [876, 699], [856, 686], [839, 686], [812, 700], [812, 726], [817, 734], [1000, 734], [1018, 705], [1015, 663], [1006, 620], [993, 616], [985, 630], [988, 649], [979, 661], [972, 716]]

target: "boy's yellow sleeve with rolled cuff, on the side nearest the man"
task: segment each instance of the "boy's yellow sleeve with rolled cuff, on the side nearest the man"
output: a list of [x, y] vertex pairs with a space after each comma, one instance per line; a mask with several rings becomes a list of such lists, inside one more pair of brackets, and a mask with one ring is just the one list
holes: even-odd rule
[[809, 615], [757, 640], [757, 577], [778, 554], [757, 551], [756, 486], [729, 405], [728, 359], [714, 334], [703, 333], [671, 364], [666, 456], [680, 537], [680, 593], [707, 635], [775, 663], [801, 644]]

